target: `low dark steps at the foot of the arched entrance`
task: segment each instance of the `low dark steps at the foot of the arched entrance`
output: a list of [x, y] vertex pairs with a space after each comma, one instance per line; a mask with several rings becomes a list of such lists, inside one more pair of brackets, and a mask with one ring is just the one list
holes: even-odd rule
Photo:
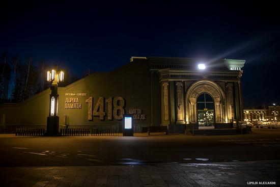
[[240, 129], [225, 128], [225, 129], [200, 129], [200, 130], [186, 130], [188, 135], [239, 135]]

